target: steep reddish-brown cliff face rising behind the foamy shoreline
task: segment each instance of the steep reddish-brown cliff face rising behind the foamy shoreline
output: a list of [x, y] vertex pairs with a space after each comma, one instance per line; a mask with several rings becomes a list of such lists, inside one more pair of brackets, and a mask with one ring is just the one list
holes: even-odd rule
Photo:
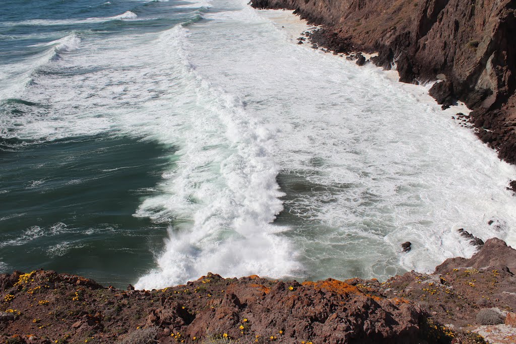
[[[336, 52], [379, 52], [400, 81], [442, 79], [430, 94], [473, 109], [478, 136], [516, 163], [516, 0], [254, 0], [290, 9], [325, 29], [315, 43]], [[487, 129], [487, 130], [486, 130]]]

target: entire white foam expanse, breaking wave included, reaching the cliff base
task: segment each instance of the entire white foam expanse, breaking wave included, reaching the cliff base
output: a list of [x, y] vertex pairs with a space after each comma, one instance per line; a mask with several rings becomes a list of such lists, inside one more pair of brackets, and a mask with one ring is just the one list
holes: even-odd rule
[[[161, 194], [136, 211], [171, 224], [138, 287], [209, 270], [384, 278], [471, 255], [459, 227], [514, 240], [505, 187], [516, 171], [451, 119], [458, 109], [441, 111], [395, 72], [295, 44], [294, 21], [273, 24], [235, 0], [217, 7], [231, 10], [158, 38], [84, 39], [24, 91], [44, 107], [2, 123], [13, 128], [7, 137], [109, 133], [178, 148]], [[282, 225], [272, 223], [283, 208]], [[413, 249], [402, 255], [407, 240]]]

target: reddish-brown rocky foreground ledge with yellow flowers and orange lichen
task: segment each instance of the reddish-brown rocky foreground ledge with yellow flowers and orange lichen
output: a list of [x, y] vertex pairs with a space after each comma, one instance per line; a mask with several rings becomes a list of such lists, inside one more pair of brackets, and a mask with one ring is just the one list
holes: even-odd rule
[[[0, 275], [5, 343], [516, 342], [516, 250], [493, 238], [470, 259], [380, 283], [223, 279], [160, 290], [103, 287], [37, 270]], [[477, 334], [479, 333], [479, 334]]]

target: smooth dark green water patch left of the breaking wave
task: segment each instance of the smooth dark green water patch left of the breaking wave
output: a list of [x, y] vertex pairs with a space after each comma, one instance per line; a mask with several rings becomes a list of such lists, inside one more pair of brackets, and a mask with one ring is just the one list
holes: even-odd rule
[[116, 286], [135, 281], [154, 266], [166, 228], [133, 214], [156, 193], [173, 151], [107, 136], [3, 150], [0, 261], [22, 271], [95, 276]]

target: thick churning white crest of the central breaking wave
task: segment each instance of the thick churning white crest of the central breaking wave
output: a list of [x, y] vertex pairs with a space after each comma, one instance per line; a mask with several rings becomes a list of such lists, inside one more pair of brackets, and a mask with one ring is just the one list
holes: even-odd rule
[[188, 31], [178, 26], [165, 32], [161, 43], [182, 60], [191, 82], [188, 87], [197, 95], [196, 111], [201, 112], [190, 112], [184, 119], [185, 127], [195, 129], [183, 132], [180, 169], [167, 176], [163, 185], [167, 194], [143, 202], [137, 215], [155, 221], [175, 216], [192, 221], [180, 231], [169, 228], [159, 270], [142, 277], [136, 286], [182, 283], [208, 270], [223, 275], [285, 275], [297, 264], [288, 240], [276, 235], [287, 228], [271, 225], [282, 209], [275, 180], [278, 166], [269, 157], [273, 137], [236, 96], [195, 72], [187, 37]]

